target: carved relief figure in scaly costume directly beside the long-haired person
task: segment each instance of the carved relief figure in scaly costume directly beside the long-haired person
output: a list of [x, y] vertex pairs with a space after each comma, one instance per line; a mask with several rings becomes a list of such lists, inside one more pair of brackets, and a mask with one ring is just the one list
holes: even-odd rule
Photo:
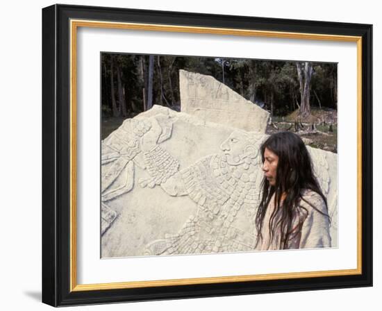
[[[263, 178], [258, 150], [263, 138], [264, 135], [234, 131], [220, 146], [221, 153], [208, 155], [175, 174], [174, 166], [168, 165], [174, 178], [160, 184], [163, 190], [172, 196], [188, 195], [198, 209], [178, 233], [166, 235], [165, 242], [158, 241], [155, 245], [158, 253], [153, 255], [254, 249], [253, 219], [259, 195], [256, 184], [259, 185]], [[153, 150], [158, 150], [158, 146]], [[171, 155], [167, 154], [166, 158], [169, 157]], [[148, 172], [157, 176], [163, 167], [158, 167], [158, 171]], [[240, 210], [244, 219], [251, 220], [247, 226], [243, 226], [243, 221], [235, 224]], [[150, 244], [151, 249], [153, 245]]]

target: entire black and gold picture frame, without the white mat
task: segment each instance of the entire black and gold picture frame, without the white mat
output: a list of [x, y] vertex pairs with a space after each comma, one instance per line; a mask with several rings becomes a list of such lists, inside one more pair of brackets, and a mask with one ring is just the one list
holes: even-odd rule
[[[356, 44], [356, 137], [345, 138], [356, 140], [356, 268], [79, 284], [80, 28]], [[42, 302], [57, 307], [367, 287], [372, 286], [372, 267], [372, 25], [91, 6], [53, 5], [42, 10]]]

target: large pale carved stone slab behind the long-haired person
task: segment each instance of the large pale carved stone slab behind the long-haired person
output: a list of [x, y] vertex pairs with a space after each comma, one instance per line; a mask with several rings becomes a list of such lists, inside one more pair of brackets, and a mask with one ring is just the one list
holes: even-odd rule
[[[267, 135], [153, 106], [102, 142], [101, 256], [253, 251]], [[308, 147], [333, 217], [337, 158]]]

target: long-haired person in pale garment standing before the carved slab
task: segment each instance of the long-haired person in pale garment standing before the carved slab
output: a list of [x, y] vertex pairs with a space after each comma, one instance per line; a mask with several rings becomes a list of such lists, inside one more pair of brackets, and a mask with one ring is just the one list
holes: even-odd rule
[[261, 148], [263, 194], [256, 214], [256, 249], [331, 247], [326, 198], [298, 135], [270, 135]]

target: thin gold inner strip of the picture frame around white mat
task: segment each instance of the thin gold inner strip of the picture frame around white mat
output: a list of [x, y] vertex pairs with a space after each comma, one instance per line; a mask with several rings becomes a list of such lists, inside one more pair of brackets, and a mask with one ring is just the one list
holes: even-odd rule
[[[286, 39], [324, 40], [356, 42], [357, 44], [357, 268], [330, 271], [294, 272], [283, 274], [256, 274], [246, 276], [219, 276], [210, 278], [182, 278], [171, 280], [131, 281], [119, 283], [77, 284], [76, 255], [76, 35], [78, 27], [118, 28], [144, 31], [167, 31], [176, 33], [206, 33], [217, 35], [240, 35], [277, 37]], [[281, 280], [288, 278], [313, 278], [323, 276], [349, 276], [362, 274], [362, 37], [345, 35], [322, 35], [312, 33], [288, 33], [279, 31], [255, 31], [234, 28], [208, 28], [156, 24], [133, 24], [121, 22], [99, 22], [93, 20], [70, 20], [70, 291], [99, 289], [124, 289], [138, 287], [196, 285], [212, 283], [243, 282], [253, 280]]]

